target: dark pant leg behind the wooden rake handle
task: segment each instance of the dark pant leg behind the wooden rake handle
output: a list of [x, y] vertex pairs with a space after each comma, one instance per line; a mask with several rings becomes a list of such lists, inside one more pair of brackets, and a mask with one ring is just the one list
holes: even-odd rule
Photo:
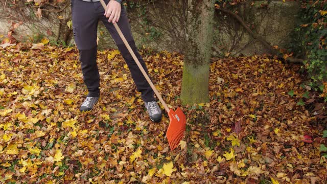
[[[154, 91], [152, 90], [152, 88], [149, 85], [148, 81], [143, 76], [141, 70], [139, 70], [136, 62], [132, 58], [131, 54], [128, 52], [125, 44], [123, 43], [123, 40], [120, 38], [120, 36], [119, 36], [118, 32], [115, 30], [113, 24], [109, 23], [108, 18], [106, 18], [103, 15], [104, 11], [101, 12], [101, 13], [102, 14], [100, 14], [100, 19], [102, 20], [103, 24], [108, 29], [108, 31], [110, 32], [110, 34], [111, 34], [113, 40], [115, 41], [119, 51], [121, 52], [124, 60], [126, 61], [126, 64], [127, 64], [128, 68], [129, 68], [129, 70], [131, 72], [131, 75], [132, 75], [133, 81], [134, 81], [134, 83], [136, 85], [136, 88], [137, 88], [137, 90], [139, 92], [142, 93], [142, 99], [145, 102], [154, 101], [155, 100]], [[134, 51], [137, 59], [139, 60], [139, 62], [143, 66], [144, 70], [148, 74], [147, 66], [146, 66], [142, 56], [138, 53], [138, 51], [136, 49], [136, 45], [135, 45], [135, 42], [134, 42], [134, 39], [133, 39], [133, 36], [132, 36], [132, 33], [131, 33], [131, 28], [130, 28], [130, 24], [129, 24], [129, 21], [128, 21], [127, 13], [126, 13], [124, 7], [122, 7], [121, 16], [120, 16], [120, 19], [117, 22], [117, 24], [120, 27], [120, 29], [122, 30], [124, 36], [126, 37], [126, 40], [130, 44], [130, 47]]]

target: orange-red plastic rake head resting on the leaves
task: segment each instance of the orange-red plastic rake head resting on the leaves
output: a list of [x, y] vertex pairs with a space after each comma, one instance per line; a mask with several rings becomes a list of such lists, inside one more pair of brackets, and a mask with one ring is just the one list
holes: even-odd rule
[[184, 132], [186, 129], [186, 118], [185, 114], [179, 107], [177, 107], [176, 111], [170, 109], [169, 110], [169, 127], [166, 133], [168, 143], [170, 149], [175, 149], [179, 142], [183, 139]]

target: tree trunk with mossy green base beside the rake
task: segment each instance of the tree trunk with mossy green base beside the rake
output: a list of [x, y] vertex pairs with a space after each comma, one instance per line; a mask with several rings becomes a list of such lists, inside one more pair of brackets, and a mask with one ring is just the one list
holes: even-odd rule
[[181, 100], [183, 104], [209, 101], [209, 64], [213, 42], [214, 1], [188, 1], [186, 51]]

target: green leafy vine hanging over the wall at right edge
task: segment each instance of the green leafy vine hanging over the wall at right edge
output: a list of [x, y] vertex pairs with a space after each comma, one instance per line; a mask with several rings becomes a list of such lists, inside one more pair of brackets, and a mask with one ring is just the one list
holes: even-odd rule
[[295, 29], [291, 50], [306, 58], [302, 67], [312, 79], [311, 86], [327, 102], [327, 1], [301, 3], [301, 24]]

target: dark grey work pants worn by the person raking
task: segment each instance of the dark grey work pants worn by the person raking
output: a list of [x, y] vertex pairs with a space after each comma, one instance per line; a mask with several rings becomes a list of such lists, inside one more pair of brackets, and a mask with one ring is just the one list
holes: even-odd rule
[[[108, 2], [109, 0], [105, 0], [106, 4], [108, 4]], [[154, 101], [155, 98], [153, 90], [143, 76], [141, 70], [139, 70], [134, 59], [129, 54], [123, 40], [120, 38], [118, 32], [116, 32], [113, 24], [109, 23], [108, 18], [103, 15], [104, 9], [100, 2], [83, 2], [81, 0], [72, 0], [72, 14], [74, 39], [80, 53], [83, 80], [89, 91], [87, 96], [100, 96], [100, 75], [97, 66], [97, 29], [98, 22], [101, 20], [111, 34], [111, 37], [115, 41], [119, 51], [126, 61], [136, 88], [142, 93], [142, 99], [145, 102]], [[142, 56], [137, 52], [127, 18], [127, 13], [124, 7], [122, 7], [121, 16], [117, 24], [121, 28], [137, 59], [139, 62], [141, 62], [144, 70], [148, 73]]]

